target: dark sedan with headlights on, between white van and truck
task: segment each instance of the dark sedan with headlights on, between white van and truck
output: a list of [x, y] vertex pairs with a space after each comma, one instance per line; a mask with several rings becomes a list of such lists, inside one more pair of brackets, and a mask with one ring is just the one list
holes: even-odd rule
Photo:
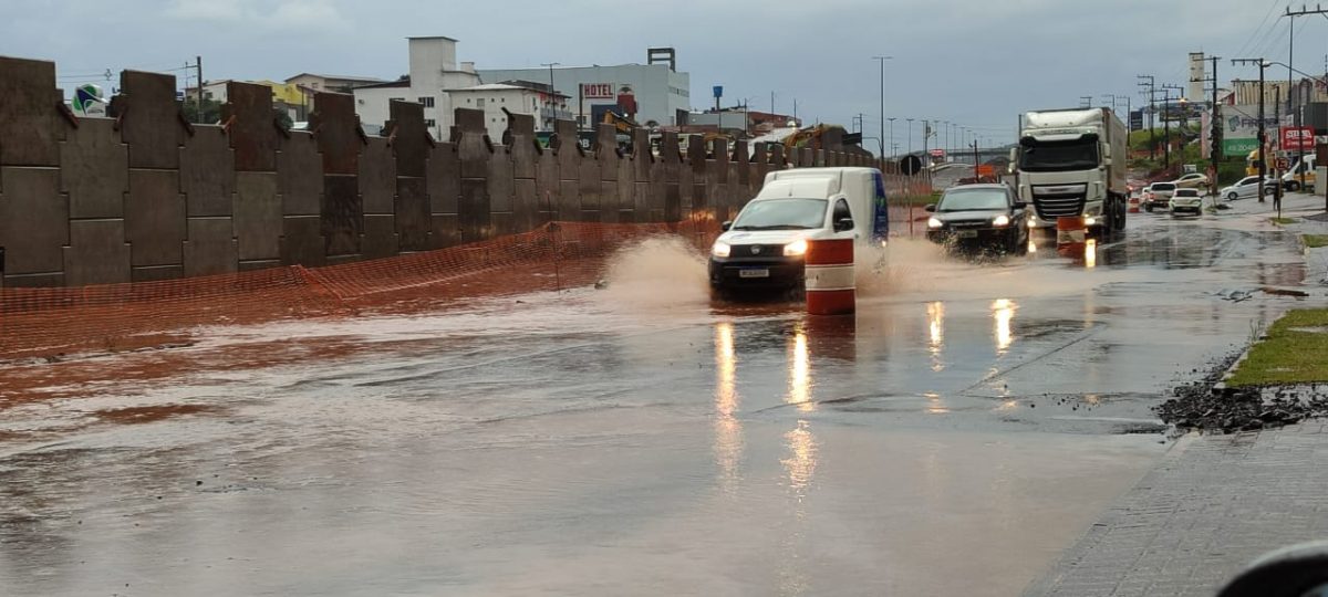
[[951, 187], [927, 206], [927, 237], [963, 249], [1028, 251], [1027, 204], [1005, 184]]

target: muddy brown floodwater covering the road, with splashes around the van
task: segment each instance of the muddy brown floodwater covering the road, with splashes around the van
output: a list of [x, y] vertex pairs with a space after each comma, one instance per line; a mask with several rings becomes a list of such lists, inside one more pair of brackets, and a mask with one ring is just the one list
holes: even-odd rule
[[896, 241], [847, 318], [653, 240], [604, 289], [15, 366], [0, 594], [1017, 594], [1295, 304], [1220, 296], [1299, 284], [1289, 236], [1131, 227]]

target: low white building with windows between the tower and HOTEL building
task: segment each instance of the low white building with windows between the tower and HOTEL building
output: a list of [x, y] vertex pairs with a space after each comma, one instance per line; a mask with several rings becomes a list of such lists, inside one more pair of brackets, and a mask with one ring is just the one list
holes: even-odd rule
[[547, 85], [534, 85], [526, 81], [475, 85], [465, 89], [449, 89], [453, 107], [469, 107], [485, 111], [485, 126], [489, 138], [495, 143], [507, 129], [507, 114], [527, 114], [535, 118], [535, 130], [552, 131], [554, 121], [570, 121], [567, 96], [550, 96]]

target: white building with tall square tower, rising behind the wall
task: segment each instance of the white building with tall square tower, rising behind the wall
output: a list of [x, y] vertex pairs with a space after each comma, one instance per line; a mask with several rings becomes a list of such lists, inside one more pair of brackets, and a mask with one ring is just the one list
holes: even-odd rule
[[359, 86], [355, 111], [360, 122], [382, 126], [390, 118], [392, 100], [424, 105], [425, 127], [436, 139], [448, 139], [454, 121], [449, 89], [479, 85], [474, 62], [457, 64], [457, 40], [452, 37], [408, 37], [410, 74], [377, 85]]

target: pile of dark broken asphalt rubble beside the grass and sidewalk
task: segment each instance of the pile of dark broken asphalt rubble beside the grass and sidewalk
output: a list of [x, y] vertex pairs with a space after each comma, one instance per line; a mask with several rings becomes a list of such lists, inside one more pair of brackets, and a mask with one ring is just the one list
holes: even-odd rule
[[1178, 431], [1231, 434], [1328, 417], [1328, 386], [1218, 387], [1230, 365], [1214, 367], [1202, 379], [1171, 390], [1175, 395], [1154, 407]]

